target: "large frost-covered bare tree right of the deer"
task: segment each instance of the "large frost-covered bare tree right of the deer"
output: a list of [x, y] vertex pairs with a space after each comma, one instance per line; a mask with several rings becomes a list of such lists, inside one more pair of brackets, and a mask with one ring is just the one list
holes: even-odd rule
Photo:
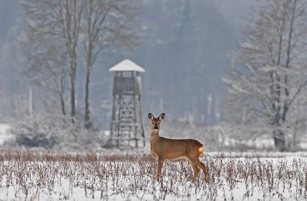
[[285, 126], [307, 84], [307, 1], [260, 0], [234, 58], [242, 64], [224, 78], [236, 108], [269, 123], [275, 146], [287, 149]]

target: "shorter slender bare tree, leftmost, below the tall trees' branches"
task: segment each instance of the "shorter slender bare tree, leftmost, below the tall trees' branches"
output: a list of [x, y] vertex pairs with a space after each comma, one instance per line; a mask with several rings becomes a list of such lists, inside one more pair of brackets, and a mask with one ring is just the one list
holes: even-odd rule
[[[65, 89], [67, 89], [68, 56], [63, 45], [55, 41], [28, 40], [21, 43], [24, 55], [29, 58], [29, 67], [24, 71], [30, 82], [48, 93], [49, 98], [56, 97], [63, 115], [65, 109]], [[45, 47], [42, 44], [46, 44]], [[37, 53], [37, 46], [44, 51]], [[47, 94], [46, 94], [47, 95]]]

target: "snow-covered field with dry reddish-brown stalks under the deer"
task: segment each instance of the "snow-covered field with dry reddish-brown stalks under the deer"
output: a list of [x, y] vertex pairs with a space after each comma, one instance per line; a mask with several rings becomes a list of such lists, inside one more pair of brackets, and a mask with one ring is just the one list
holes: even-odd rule
[[[301, 155], [304, 155], [301, 153]], [[267, 155], [269, 156], [269, 155]], [[275, 155], [277, 156], [277, 155]], [[304, 157], [209, 154], [209, 183], [191, 183], [188, 162], [165, 162], [156, 181], [148, 153], [103, 154], [1, 150], [0, 200], [306, 200]]]

